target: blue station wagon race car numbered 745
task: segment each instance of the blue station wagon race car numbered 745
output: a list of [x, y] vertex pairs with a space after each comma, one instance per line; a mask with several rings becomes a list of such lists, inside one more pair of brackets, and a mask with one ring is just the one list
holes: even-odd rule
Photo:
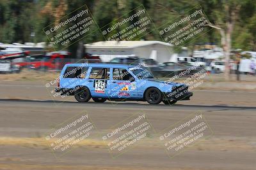
[[66, 64], [55, 89], [61, 96], [75, 96], [79, 102], [147, 101], [174, 104], [193, 96], [188, 85], [154, 78], [140, 66], [125, 64]]

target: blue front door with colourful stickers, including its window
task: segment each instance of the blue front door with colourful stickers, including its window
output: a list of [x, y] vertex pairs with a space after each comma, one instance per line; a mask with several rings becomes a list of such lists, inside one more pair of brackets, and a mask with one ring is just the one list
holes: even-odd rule
[[111, 68], [110, 87], [109, 98], [138, 98], [135, 78], [128, 69], [117, 67]]

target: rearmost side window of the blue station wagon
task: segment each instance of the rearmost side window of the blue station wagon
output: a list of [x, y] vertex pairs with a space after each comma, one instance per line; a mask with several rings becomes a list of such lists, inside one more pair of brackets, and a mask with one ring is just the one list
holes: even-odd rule
[[67, 67], [63, 78], [85, 78], [88, 67]]

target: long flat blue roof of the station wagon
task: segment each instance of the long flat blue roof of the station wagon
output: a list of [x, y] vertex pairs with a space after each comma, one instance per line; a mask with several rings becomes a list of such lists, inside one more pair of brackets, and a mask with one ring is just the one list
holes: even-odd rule
[[134, 65], [128, 65], [128, 64], [110, 64], [110, 63], [71, 63], [66, 64], [65, 66], [88, 66], [88, 67], [135, 67]]

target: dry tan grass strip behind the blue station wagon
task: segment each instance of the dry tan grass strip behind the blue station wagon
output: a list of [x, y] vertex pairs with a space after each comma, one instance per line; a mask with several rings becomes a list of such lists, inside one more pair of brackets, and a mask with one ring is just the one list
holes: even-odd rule
[[[56, 80], [60, 73], [41, 72], [33, 70], [24, 70], [19, 74], [0, 74], [0, 84], [6, 84], [6, 81], [13, 81], [19, 85], [21, 81], [28, 81], [31, 85], [45, 85], [52, 80]], [[223, 74], [207, 74], [200, 85], [195, 90], [242, 90], [256, 92], [256, 76], [241, 75], [241, 81], [236, 81], [236, 75], [231, 75], [230, 80], [226, 81]], [[179, 78], [177, 82], [184, 82], [187, 78]], [[159, 78], [159, 80], [170, 80], [170, 78]], [[7, 83], [8, 84], [8, 83]]]

